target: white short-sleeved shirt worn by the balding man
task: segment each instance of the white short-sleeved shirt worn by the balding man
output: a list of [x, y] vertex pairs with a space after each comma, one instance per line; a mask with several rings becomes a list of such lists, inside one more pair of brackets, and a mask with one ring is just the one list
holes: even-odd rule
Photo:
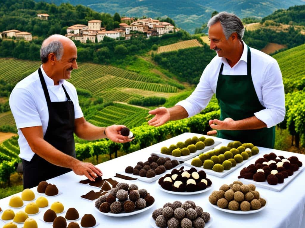
[[[51, 102], [67, 101], [62, 87], [64, 85], [74, 104], [75, 119], [83, 117], [75, 87], [65, 80], [60, 80], [59, 85], [54, 85], [54, 81], [46, 75], [42, 65], [40, 69], [45, 79]], [[18, 129], [19, 157], [30, 161], [34, 156], [34, 152], [31, 150], [20, 128], [42, 126], [43, 135], [45, 136], [49, 121], [48, 105], [41, 86], [38, 70], [17, 83], [9, 97], [9, 106]]]

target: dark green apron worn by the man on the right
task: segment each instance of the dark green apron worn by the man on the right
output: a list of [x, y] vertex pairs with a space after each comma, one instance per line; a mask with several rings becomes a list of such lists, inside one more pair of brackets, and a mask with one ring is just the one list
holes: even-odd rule
[[[234, 120], [246, 119], [254, 116], [255, 112], [265, 109], [258, 100], [252, 81], [250, 48], [248, 47], [247, 75], [224, 75], [222, 74], [223, 67], [222, 63], [216, 88], [216, 98], [220, 106], [220, 120], [227, 117]], [[257, 130], [218, 130], [217, 137], [273, 148], [275, 126]]]

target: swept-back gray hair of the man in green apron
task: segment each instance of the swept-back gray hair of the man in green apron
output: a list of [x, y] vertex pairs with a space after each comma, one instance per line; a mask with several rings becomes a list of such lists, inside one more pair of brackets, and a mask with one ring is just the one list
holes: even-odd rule
[[218, 21], [222, 26], [224, 35], [227, 40], [232, 35], [232, 33], [237, 33], [237, 36], [240, 40], [244, 36], [245, 28], [242, 24], [241, 19], [235, 14], [228, 12], [220, 12], [208, 21], [207, 26], [210, 27]]

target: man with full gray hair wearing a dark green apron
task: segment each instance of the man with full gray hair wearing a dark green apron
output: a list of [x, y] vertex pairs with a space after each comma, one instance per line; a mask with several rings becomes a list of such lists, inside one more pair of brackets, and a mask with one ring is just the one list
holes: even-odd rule
[[194, 116], [215, 93], [220, 119], [207, 134], [261, 147], [274, 147], [275, 125], [285, 116], [285, 94], [277, 61], [242, 40], [244, 26], [234, 14], [220, 12], [209, 22], [210, 49], [217, 55], [206, 66], [195, 91], [169, 109], [150, 111], [149, 125]]

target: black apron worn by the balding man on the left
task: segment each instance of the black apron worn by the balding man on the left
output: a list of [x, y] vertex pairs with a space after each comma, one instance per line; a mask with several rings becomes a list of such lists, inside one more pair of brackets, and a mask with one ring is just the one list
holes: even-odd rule
[[[48, 104], [49, 121], [45, 132], [44, 140], [61, 152], [75, 157], [74, 143], [74, 105], [65, 87], [62, 85], [66, 94], [67, 101], [51, 102], [45, 79], [41, 69], [38, 69], [39, 78], [45, 99]], [[32, 188], [40, 181], [57, 177], [71, 171], [69, 168], [59, 167], [51, 164], [42, 157], [34, 154], [31, 161], [22, 159], [23, 164], [23, 188]]]

